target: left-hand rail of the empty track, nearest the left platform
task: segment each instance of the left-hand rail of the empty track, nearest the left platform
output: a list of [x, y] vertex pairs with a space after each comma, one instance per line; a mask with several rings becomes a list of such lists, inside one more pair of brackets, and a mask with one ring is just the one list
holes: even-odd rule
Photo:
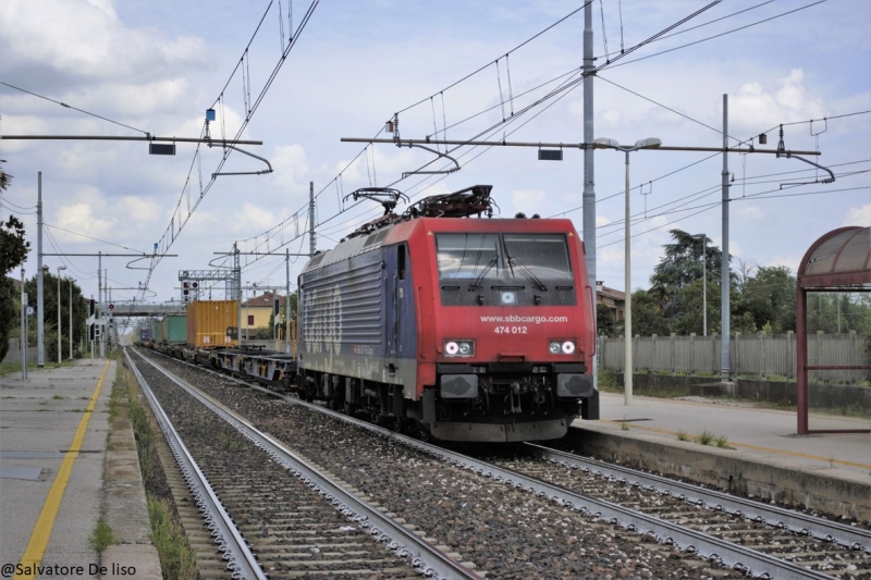
[[[233, 578], [267, 580], [266, 573], [262, 568], [260, 568], [247, 542], [236, 529], [233, 520], [221, 504], [221, 501], [214, 494], [214, 491], [206, 481], [206, 477], [191, 456], [187, 447], [182, 443], [179, 433], [175, 431], [175, 428], [172, 427], [172, 422], [151, 392], [150, 386], [148, 386], [148, 382], [142, 375], [139, 369], [136, 368], [126, 347], [124, 348], [124, 356], [133, 373], [136, 375], [136, 380], [139, 381], [143, 393], [145, 393], [145, 397], [151, 406], [155, 418], [161, 431], [163, 431], [163, 435], [167, 437], [167, 443], [169, 443], [172, 455], [179, 462], [179, 467], [182, 470], [187, 485], [191, 488], [191, 493], [197, 506], [200, 508], [203, 517], [206, 519], [212, 538], [214, 538], [216, 542], [219, 544], [219, 551], [228, 560], [228, 570], [233, 572]], [[147, 358], [142, 357], [142, 355], [139, 355], [139, 357], [146, 362], [150, 362]]]

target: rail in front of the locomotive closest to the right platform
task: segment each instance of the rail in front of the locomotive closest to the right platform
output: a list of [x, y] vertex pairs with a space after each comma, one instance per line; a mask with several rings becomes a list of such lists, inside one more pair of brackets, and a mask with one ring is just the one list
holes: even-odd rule
[[653, 486], [675, 497], [683, 496], [689, 503], [706, 505], [711, 509], [722, 510], [733, 516], [764, 522], [773, 528], [786, 528], [796, 533], [810, 534], [819, 540], [835, 542], [852, 550], [871, 552], [871, 532], [868, 530], [814, 518], [813, 516], [777, 506], [760, 504], [759, 502], [728, 495], [716, 490], [702, 489], [698, 485], [645, 473], [627, 467], [579, 457], [535, 443], [525, 443], [524, 445], [533, 455], [551, 462], [567, 465], [575, 469], [584, 469], [593, 474], [601, 473], [606, 477], [613, 477], [625, 481], [628, 485], [638, 483], [639, 485]]

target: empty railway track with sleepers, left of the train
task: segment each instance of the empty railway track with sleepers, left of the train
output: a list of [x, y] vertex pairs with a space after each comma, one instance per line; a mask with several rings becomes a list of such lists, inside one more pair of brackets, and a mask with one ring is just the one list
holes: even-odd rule
[[[172, 373], [127, 361], [214, 539], [211, 555], [231, 578], [478, 578]], [[210, 559], [201, 571], [214, 572]]]

